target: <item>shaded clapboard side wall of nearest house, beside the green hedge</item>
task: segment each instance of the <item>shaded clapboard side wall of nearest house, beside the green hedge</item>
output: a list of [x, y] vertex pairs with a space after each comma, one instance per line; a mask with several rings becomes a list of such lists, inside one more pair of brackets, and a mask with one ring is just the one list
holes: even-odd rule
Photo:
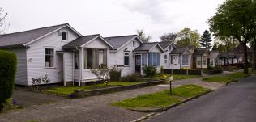
[[25, 48], [11, 48], [6, 49], [16, 54], [17, 57], [17, 70], [15, 74], [15, 84], [27, 85], [27, 58]]

